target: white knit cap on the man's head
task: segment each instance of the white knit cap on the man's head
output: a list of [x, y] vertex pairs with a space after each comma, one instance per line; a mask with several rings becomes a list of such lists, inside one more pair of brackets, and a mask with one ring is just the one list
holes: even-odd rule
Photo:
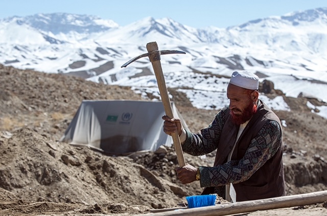
[[259, 77], [246, 70], [234, 71], [231, 74], [229, 83], [244, 89], [259, 89]]

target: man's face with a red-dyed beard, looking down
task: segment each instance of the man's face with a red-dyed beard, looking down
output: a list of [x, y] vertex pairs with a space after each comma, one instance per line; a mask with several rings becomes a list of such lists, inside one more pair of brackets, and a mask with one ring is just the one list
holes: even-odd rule
[[249, 91], [241, 87], [229, 84], [227, 87], [227, 98], [232, 120], [240, 125], [248, 121], [256, 112], [256, 100], [258, 91]]

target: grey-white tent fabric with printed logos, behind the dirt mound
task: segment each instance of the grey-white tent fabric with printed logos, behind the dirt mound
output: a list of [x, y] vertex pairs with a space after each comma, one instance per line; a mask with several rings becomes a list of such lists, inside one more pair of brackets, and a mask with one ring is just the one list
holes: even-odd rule
[[[188, 128], [175, 104], [174, 117]], [[163, 130], [165, 115], [161, 101], [83, 100], [60, 142], [88, 146], [112, 154], [155, 151], [172, 146]]]

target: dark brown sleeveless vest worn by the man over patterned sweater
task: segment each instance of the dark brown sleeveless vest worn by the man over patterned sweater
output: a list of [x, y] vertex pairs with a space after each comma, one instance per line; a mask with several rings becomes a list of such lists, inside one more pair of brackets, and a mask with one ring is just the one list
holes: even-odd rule
[[[226, 121], [221, 132], [221, 138], [218, 144], [217, 154], [214, 166], [226, 163], [228, 154], [236, 141], [239, 126], [231, 121], [231, 115], [227, 111]], [[259, 100], [258, 111], [252, 116], [244, 128], [235, 150], [232, 153], [231, 160], [240, 160], [245, 154], [250, 141], [256, 137], [260, 129], [268, 120], [274, 120], [281, 126], [278, 117], [269, 109], [269, 107]], [[283, 142], [281, 141], [277, 152], [266, 161], [266, 163], [257, 170], [246, 181], [233, 184], [236, 191], [237, 201], [258, 200], [285, 195], [285, 181], [283, 170]], [[225, 186], [223, 186], [225, 188]], [[206, 194], [205, 188], [202, 194]], [[220, 188], [219, 191], [222, 188]]]

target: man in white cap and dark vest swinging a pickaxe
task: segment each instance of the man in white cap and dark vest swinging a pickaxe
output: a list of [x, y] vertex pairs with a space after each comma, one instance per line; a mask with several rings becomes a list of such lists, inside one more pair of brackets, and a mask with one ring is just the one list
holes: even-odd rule
[[233, 202], [285, 195], [281, 122], [259, 99], [258, 89], [258, 76], [233, 72], [229, 106], [197, 133], [186, 131], [177, 118], [162, 117], [167, 134], [178, 131], [184, 152], [196, 156], [217, 149], [213, 167], [186, 164], [176, 169], [183, 184], [199, 180], [205, 187], [202, 194]]

